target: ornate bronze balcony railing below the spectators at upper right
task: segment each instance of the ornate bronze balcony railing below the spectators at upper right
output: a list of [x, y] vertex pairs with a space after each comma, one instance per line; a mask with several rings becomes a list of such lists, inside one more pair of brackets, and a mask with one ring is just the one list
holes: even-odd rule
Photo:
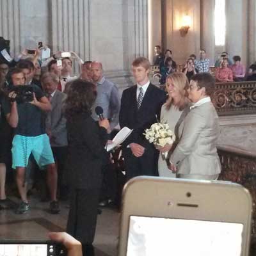
[[256, 81], [216, 83], [212, 102], [218, 115], [256, 113]]

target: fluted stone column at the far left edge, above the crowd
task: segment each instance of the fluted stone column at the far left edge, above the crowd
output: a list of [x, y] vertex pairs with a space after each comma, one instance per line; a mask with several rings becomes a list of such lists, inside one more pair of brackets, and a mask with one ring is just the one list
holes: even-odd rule
[[20, 0], [0, 1], [0, 35], [10, 40], [11, 54], [20, 52]]

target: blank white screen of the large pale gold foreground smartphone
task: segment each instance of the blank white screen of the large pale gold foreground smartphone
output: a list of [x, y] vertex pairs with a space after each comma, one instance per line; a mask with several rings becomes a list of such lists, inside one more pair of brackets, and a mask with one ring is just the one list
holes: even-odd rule
[[240, 256], [243, 224], [130, 216], [127, 256]]

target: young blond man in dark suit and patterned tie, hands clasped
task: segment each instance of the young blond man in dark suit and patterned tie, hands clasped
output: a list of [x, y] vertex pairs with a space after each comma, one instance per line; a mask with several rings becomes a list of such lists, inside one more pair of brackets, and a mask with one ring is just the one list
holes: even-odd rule
[[132, 62], [136, 85], [124, 90], [121, 99], [120, 127], [133, 129], [122, 144], [127, 180], [139, 175], [158, 175], [157, 150], [143, 133], [159, 120], [166, 93], [150, 83], [150, 62], [143, 57]]

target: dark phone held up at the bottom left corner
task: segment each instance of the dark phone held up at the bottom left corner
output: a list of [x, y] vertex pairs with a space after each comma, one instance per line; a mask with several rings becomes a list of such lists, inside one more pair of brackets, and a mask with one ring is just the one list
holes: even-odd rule
[[1, 240], [0, 255], [4, 256], [65, 256], [67, 250], [53, 241]]

